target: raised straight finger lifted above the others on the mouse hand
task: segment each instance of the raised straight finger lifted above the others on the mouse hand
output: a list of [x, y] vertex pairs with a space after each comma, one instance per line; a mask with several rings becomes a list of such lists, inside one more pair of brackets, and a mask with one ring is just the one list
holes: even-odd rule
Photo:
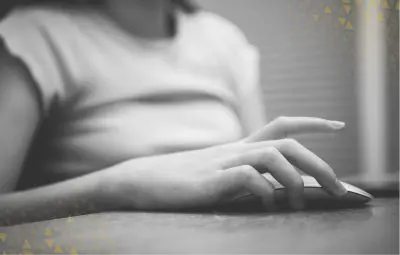
[[344, 122], [311, 117], [279, 117], [259, 131], [245, 138], [244, 142], [283, 139], [289, 135], [334, 132], [343, 129]]

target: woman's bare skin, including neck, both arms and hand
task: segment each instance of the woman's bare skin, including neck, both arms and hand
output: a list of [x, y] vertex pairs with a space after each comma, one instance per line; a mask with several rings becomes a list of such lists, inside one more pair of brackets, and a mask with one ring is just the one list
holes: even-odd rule
[[[158, 38], [167, 34], [165, 24], [158, 22], [169, 8], [165, 3], [110, 0], [106, 6], [111, 17], [130, 33]], [[126, 16], [131, 11], [136, 14], [134, 18]], [[343, 123], [287, 117], [234, 143], [132, 159], [56, 184], [14, 191], [23, 159], [42, 121], [34, 87], [24, 65], [5, 49], [0, 50], [0, 225], [122, 208], [180, 210], [213, 206], [243, 191], [262, 198], [266, 210], [270, 210], [274, 208], [274, 189], [261, 175], [267, 171], [287, 187], [290, 205], [301, 209], [303, 183], [295, 167], [314, 176], [332, 195], [346, 193], [326, 162], [287, 138], [298, 133], [336, 132]], [[253, 93], [254, 98], [259, 97], [258, 91]], [[247, 97], [252, 98], [251, 93]], [[257, 115], [264, 115], [257, 103], [247, 108], [254, 120], [247, 127], [250, 132], [263, 124], [263, 118]]]

